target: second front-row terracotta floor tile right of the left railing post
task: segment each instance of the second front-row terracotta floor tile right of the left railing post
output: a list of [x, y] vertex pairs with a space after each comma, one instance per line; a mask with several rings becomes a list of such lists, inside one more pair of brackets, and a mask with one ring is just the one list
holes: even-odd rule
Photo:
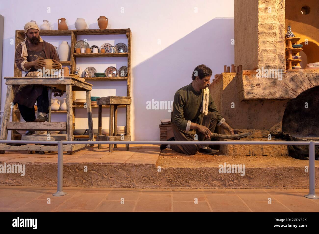
[[134, 201], [103, 201], [94, 212], [132, 212], [135, 206]]

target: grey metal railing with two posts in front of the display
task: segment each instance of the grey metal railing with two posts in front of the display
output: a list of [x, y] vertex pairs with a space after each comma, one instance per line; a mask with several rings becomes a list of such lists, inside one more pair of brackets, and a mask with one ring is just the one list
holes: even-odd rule
[[[0, 144], [51, 144], [58, 145], [58, 173], [57, 191], [54, 196], [63, 196], [67, 193], [63, 191], [63, 145], [207, 145], [207, 141], [20, 141], [20, 140], [0, 140]], [[93, 144], [92, 144], [93, 143]], [[315, 194], [315, 145], [318, 141], [212, 141], [213, 145], [309, 145], [309, 193], [307, 198], [319, 199]]]

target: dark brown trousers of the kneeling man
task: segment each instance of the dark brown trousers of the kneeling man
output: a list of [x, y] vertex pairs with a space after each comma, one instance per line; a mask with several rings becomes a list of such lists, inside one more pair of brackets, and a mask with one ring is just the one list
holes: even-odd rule
[[[207, 115], [204, 115], [203, 120], [200, 125], [206, 126], [211, 132], [215, 131], [215, 127], [217, 124], [217, 115], [215, 112], [208, 112]], [[211, 138], [205, 138], [205, 136], [196, 131], [196, 129], [191, 129], [190, 131], [183, 131], [176, 127], [174, 122], [172, 122], [172, 129], [174, 133], [175, 141], [210, 141]], [[195, 140], [195, 134], [197, 134], [197, 139]], [[209, 142], [207, 142], [207, 146]], [[170, 145], [170, 148], [176, 152], [184, 153], [184, 154], [196, 154], [201, 145]]]

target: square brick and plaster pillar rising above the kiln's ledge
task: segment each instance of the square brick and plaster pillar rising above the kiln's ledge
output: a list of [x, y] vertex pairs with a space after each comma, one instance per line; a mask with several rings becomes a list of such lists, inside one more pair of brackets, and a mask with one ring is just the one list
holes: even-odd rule
[[234, 0], [235, 65], [285, 69], [285, 0]]

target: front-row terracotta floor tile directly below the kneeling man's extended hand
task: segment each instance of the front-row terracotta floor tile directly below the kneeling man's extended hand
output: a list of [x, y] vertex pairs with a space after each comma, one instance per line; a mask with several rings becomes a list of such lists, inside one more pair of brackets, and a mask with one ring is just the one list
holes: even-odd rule
[[237, 195], [206, 195], [213, 212], [250, 212]]

